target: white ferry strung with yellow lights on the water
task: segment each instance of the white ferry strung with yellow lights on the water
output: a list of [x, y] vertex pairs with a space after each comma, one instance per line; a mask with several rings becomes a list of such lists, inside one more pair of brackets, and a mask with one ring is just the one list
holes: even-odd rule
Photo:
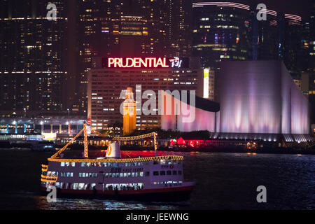
[[[61, 158], [62, 151], [84, 132], [84, 158]], [[106, 158], [89, 158], [86, 124], [64, 148], [42, 165], [41, 190], [55, 186], [57, 197], [101, 197], [113, 200], [185, 201], [195, 183], [184, 181], [183, 156], [157, 156], [156, 133], [138, 137], [116, 137]], [[154, 137], [155, 156], [121, 158], [120, 141]], [[49, 190], [50, 191], [50, 190]]]

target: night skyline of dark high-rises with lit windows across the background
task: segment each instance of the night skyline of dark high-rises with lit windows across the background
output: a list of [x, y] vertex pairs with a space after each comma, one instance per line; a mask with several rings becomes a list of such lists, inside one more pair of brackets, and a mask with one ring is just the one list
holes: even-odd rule
[[[314, 22], [307, 13], [311, 7], [300, 10], [296, 3], [291, 4], [294, 1], [266, 1], [267, 8], [278, 13], [267, 14], [264, 22], [255, 20], [253, 1], [235, 1], [248, 3], [247, 10], [233, 4], [194, 8], [202, 2], [207, 1], [56, 1], [57, 21], [48, 21], [46, 1], [27, 1], [25, 5], [3, 1], [2, 116], [10, 116], [11, 109], [22, 115], [27, 111], [28, 116], [50, 111], [86, 116], [87, 73], [101, 57], [200, 57], [202, 69], [211, 72], [209, 94], [216, 102], [220, 99], [217, 80], [221, 61], [281, 59], [293, 79], [300, 80], [303, 72], [312, 77], [309, 63]], [[204, 16], [207, 13], [199, 11], [206, 8], [207, 13], [214, 13], [210, 20]], [[280, 13], [292, 10], [302, 19]], [[231, 18], [228, 22], [223, 21], [226, 16]], [[27, 38], [20, 41], [20, 36]], [[302, 91], [314, 102], [311, 84]]]

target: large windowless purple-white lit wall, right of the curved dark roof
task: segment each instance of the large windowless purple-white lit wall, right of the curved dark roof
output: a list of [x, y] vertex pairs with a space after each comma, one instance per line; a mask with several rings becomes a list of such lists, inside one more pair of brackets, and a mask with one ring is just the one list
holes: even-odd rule
[[222, 62], [220, 131], [308, 134], [307, 99], [279, 61]]

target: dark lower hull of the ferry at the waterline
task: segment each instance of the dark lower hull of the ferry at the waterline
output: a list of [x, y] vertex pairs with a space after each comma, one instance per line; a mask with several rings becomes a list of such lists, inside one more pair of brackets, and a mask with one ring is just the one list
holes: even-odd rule
[[[57, 197], [99, 198], [122, 201], [183, 202], [190, 199], [193, 186], [142, 190], [72, 190], [57, 188]], [[41, 188], [47, 195], [46, 188]]]

